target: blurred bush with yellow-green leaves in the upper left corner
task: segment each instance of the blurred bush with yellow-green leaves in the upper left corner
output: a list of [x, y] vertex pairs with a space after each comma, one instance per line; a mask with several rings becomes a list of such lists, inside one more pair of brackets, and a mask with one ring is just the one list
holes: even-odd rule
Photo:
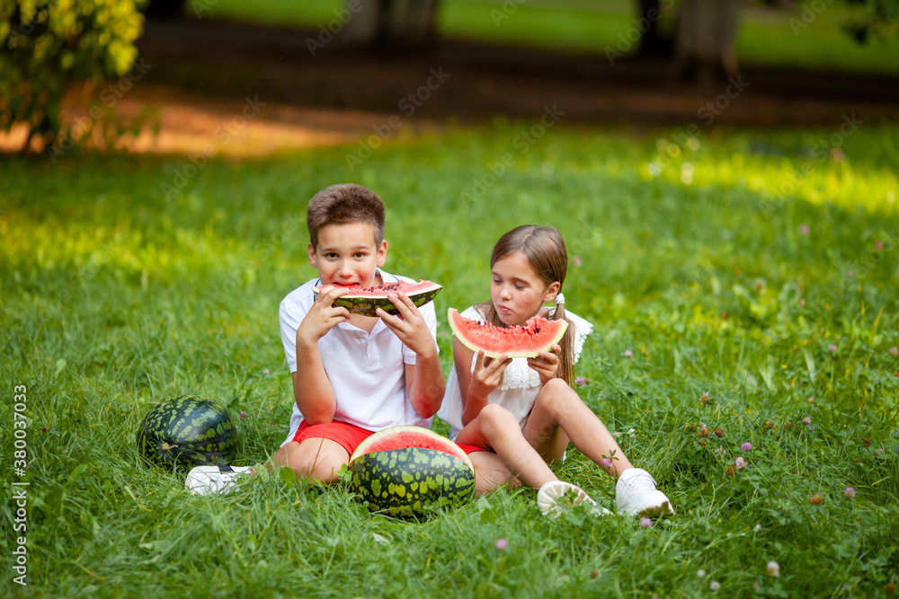
[[31, 137], [55, 141], [67, 85], [125, 75], [141, 31], [133, 0], [0, 2], [0, 128], [26, 125], [26, 149]]

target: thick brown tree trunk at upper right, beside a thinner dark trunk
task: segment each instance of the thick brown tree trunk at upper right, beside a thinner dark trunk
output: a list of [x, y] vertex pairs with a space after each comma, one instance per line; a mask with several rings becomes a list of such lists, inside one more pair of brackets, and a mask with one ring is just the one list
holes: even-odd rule
[[683, 0], [674, 47], [681, 80], [713, 84], [737, 75], [739, 4], [740, 0]]

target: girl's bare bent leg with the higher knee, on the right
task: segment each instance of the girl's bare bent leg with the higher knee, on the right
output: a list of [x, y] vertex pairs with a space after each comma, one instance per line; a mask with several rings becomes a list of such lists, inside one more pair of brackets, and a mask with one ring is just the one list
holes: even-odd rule
[[[543, 385], [522, 432], [547, 460], [560, 459], [570, 438], [582, 454], [610, 476], [634, 467], [600, 418], [561, 379]], [[611, 468], [603, 463], [603, 456], [613, 456]]]

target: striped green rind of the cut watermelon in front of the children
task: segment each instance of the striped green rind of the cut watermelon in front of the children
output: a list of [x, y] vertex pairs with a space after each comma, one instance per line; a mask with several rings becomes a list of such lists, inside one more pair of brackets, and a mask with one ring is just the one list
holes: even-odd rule
[[352, 489], [369, 510], [399, 517], [458, 507], [475, 497], [475, 473], [458, 457], [404, 447], [364, 454], [350, 463]]

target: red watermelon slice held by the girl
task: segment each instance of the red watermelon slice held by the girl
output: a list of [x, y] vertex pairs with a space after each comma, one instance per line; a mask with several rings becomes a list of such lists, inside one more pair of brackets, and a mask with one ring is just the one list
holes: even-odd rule
[[472, 351], [484, 350], [486, 357], [538, 357], [558, 343], [568, 322], [549, 321], [533, 316], [523, 327], [497, 327], [485, 322], [473, 321], [449, 308], [449, 328], [456, 339]]

